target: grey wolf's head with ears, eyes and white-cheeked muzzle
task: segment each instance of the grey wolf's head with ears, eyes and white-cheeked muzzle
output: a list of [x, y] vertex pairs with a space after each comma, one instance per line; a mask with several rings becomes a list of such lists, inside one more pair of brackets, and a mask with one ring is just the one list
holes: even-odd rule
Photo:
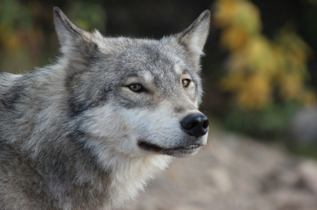
[[70, 117], [78, 135], [94, 139], [85, 147], [101, 158], [182, 157], [206, 144], [199, 59], [209, 19], [204, 11], [185, 31], [160, 40], [110, 38], [80, 29], [54, 8]]

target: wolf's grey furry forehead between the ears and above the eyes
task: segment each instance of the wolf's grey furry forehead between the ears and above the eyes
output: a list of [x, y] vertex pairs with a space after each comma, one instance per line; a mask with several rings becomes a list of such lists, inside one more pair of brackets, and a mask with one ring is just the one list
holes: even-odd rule
[[190, 74], [194, 79], [199, 71], [199, 67], [190, 62], [185, 47], [173, 38], [104, 38], [97, 46], [95, 65], [107, 73], [113, 72], [111, 76], [151, 74], [154, 81], [161, 81], [178, 78], [181, 74]]

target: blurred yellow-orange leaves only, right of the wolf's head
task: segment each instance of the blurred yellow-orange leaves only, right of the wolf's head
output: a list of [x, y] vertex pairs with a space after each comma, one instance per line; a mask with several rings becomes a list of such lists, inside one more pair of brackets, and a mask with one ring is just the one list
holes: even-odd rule
[[267, 39], [261, 34], [259, 8], [247, 0], [218, 0], [215, 20], [223, 28], [220, 44], [230, 52], [221, 85], [235, 93], [237, 105], [260, 110], [277, 99], [316, 103], [305, 86], [311, 49], [291, 27]]

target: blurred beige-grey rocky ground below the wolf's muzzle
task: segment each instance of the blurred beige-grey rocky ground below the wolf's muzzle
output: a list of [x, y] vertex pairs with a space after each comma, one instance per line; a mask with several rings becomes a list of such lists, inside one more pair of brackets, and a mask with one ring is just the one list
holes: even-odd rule
[[175, 159], [123, 209], [316, 210], [317, 162], [211, 132], [199, 154]]

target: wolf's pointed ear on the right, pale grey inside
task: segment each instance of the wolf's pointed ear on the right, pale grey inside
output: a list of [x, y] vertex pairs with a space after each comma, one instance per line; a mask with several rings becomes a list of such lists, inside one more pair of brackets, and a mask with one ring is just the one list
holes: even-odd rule
[[202, 50], [209, 34], [209, 25], [210, 12], [206, 10], [199, 15], [192, 25], [175, 35], [180, 43], [187, 48], [190, 55], [192, 55], [192, 59], [196, 65], [199, 64], [200, 56], [204, 54]]

